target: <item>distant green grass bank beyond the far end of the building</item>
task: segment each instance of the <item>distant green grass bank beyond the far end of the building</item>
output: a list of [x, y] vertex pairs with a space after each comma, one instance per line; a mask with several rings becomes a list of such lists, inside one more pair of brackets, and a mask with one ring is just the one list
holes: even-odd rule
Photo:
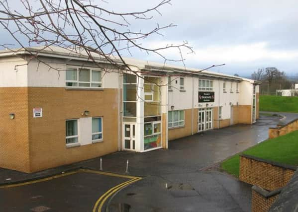
[[260, 96], [260, 111], [298, 113], [298, 97]]

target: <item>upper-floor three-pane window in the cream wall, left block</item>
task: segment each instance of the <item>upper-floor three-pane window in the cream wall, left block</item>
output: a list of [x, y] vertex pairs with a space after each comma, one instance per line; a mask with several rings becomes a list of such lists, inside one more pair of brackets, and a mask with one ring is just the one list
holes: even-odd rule
[[67, 87], [101, 87], [101, 71], [91, 69], [68, 68], [66, 70]]

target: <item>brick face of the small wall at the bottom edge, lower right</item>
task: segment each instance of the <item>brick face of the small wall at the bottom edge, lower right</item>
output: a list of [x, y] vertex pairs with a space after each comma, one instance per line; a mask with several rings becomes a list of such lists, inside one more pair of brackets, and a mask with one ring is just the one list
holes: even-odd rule
[[252, 190], [251, 212], [268, 212], [277, 198], [278, 194], [266, 197], [259, 192]]

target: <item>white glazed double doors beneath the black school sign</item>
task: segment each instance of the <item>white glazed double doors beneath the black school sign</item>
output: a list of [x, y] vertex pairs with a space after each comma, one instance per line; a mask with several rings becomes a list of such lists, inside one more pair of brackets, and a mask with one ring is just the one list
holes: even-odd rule
[[210, 130], [212, 128], [213, 128], [213, 109], [212, 108], [199, 109], [198, 132]]

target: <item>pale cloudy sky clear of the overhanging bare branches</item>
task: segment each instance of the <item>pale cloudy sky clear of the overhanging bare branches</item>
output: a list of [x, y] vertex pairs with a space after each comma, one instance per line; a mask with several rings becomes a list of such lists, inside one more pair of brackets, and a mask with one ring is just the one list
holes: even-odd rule
[[[130, 12], [150, 8], [160, 0], [95, 2], [117, 12]], [[196, 53], [185, 55], [187, 67], [203, 69], [225, 63], [211, 71], [249, 76], [258, 68], [276, 67], [288, 74], [298, 73], [297, 0], [172, 0], [172, 5], [163, 5], [159, 11], [162, 16], [153, 12], [149, 21], [130, 20], [131, 28], [148, 31], [156, 23], [177, 24], [163, 31], [164, 36], [149, 37], [142, 43], [159, 47], [187, 40]], [[3, 31], [1, 42], [9, 43], [11, 39]], [[164, 54], [177, 57], [172, 51]], [[163, 62], [139, 51], [133, 51], [133, 57]]]

